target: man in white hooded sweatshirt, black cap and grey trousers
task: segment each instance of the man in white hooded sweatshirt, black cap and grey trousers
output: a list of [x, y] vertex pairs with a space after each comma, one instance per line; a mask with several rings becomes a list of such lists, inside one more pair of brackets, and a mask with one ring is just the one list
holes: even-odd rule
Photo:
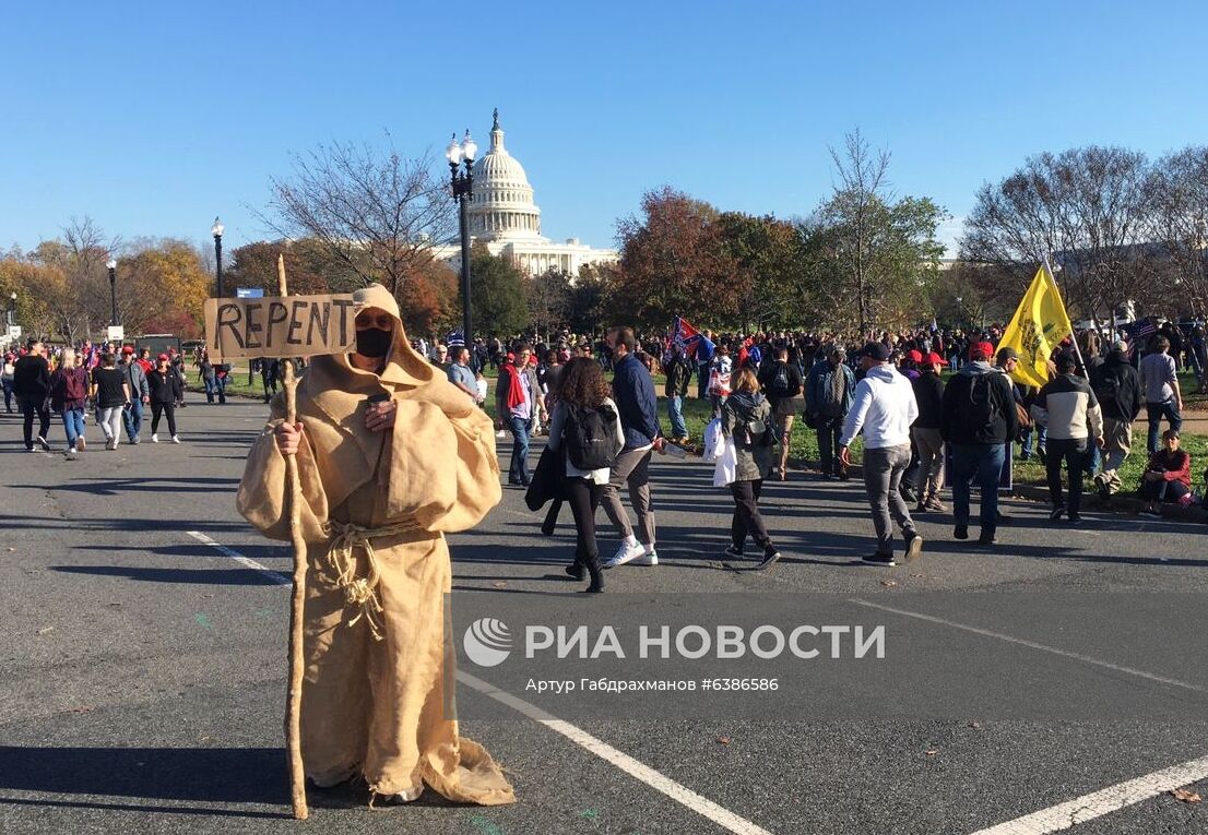
[[914, 530], [910, 508], [898, 492], [902, 473], [910, 466], [910, 425], [918, 418], [914, 389], [907, 378], [889, 364], [889, 349], [883, 343], [869, 343], [856, 355], [864, 379], [855, 386], [855, 399], [843, 422], [840, 438], [840, 460], [850, 466], [848, 449], [864, 431], [864, 486], [872, 507], [872, 524], [877, 529], [877, 553], [864, 561], [877, 566], [894, 566], [894, 526], [898, 520], [906, 538], [906, 562], [923, 553], [923, 537]]

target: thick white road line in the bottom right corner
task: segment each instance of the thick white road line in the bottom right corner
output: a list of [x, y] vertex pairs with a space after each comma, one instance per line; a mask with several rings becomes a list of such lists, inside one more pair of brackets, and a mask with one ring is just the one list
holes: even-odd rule
[[1154, 773], [1109, 786], [1099, 792], [1043, 808], [1022, 818], [1000, 823], [989, 829], [980, 829], [972, 835], [1049, 835], [1063, 829], [1073, 829], [1080, 823], [1117, 812], [1126, 806], [1156, 798], [1180, 786], [1196, 783], [1208, 777], [1208, 757], [1181, 765], [1172, 765]]

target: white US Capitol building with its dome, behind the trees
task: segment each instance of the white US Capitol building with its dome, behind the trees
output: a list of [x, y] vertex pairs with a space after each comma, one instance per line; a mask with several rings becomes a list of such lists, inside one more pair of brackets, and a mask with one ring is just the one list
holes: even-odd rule
[[[504, 147], [499, 111], [490, 128], [490, 150], [474, 163], [474, 194], [470, 199], [470, 239], [482, 241], [494, 256], [503, 256], [529, 275], [551, 268], [575, 279], [583, 264], [615, 263], [616, 250], [597, 250], [569, 238], [556, 244], [541, 237], [541, 210], [533, 203], [533, 186], [524, 168]], [[461, 267], [461, 249], [436, 247], [436, 257], [454, 269]]]

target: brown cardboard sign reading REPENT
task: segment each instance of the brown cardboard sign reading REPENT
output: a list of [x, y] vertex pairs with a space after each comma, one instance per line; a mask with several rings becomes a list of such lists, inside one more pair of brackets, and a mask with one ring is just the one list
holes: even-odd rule
[[223, 360], [343, 354], [356, 344], [352, 294], [205, 299], [205, 345]]

